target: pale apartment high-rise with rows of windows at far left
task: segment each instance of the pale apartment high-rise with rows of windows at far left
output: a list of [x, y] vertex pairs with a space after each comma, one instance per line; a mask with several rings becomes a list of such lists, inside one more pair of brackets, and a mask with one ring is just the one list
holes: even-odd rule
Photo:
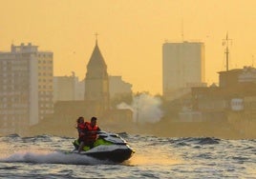
[[0, 52], [0, 133], [22, 133], [53, 113], [53, 52], [37, 49]]

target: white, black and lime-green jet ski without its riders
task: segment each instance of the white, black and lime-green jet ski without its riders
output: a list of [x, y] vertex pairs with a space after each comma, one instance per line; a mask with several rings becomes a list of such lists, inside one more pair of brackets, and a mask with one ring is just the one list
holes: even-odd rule
[[85, 146], [83, 150], [78, 152], [79, 142], [73, 142], [75, 149], [72, 153], [92, 156], [99, 160], [109, 160], [121, 163], [128, 160], [135, 152], [127, 142], [116, 133], [106, 131], [98, 131], [98, 137], [93, 147]]

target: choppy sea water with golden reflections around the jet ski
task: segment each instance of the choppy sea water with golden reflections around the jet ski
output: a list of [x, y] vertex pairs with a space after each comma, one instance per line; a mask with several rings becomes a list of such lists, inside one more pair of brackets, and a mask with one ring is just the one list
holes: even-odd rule
[[0, 178], [256, 178], [256, 140], [120, 134], [136, 150], [123, 163], [71, 154], [75, 138], [0, 137]]

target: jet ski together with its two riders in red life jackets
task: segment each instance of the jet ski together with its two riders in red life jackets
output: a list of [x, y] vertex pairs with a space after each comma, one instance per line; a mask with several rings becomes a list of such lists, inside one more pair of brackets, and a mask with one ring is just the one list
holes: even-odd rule
[[96, 125], [96, 117], [92, 117], [91, 123], [84, 122], [83, 117], [78, 118], [76, 128], [79, 138], [73, 142], [75, 149], [72, 153], [78, 152], [99, 160], [123, 162], [135, 152], [118, 134], [100, 130]]

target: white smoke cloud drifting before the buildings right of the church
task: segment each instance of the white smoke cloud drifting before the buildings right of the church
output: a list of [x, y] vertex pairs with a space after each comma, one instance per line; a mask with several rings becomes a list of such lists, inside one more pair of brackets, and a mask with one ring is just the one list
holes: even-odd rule
[[117, 109], [131, 109], [133, 121], [136, 123], [157, 123], [163, 116], [163, 111], [160, 109], [161, 103], [159, 97], [142, 93], [133, 97], [131, 106], [121, 103], [117, 105]]

